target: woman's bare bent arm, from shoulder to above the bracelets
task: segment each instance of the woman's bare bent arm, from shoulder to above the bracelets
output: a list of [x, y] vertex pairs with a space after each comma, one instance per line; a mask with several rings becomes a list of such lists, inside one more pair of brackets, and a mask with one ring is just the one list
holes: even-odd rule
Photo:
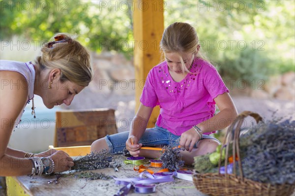
[[[1, 80], [8, 85], [1, 86], [0, 94], [0, 175], [24, 175], [31, 172], [29, 159], [20, 159], [6, 154], [7, 145], [18, 115], [22, 112], [28, 99], [28, 83], [25, 77], [17, 72], [1, 71]], [[25, 82], [24, 82], [25, 81]], [[8, 150], [10, 153], [11, 151]], [[21, 154], [17, 153], [17, 156]]]

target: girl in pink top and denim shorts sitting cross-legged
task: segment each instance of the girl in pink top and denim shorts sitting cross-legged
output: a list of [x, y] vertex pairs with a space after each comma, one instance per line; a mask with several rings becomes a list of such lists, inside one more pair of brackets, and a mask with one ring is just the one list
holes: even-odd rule
[[[140, 148], [178, 146], [178, 140], [180, 147], [185, 148], [182, 159], [191, 165], [194, 156], [213, 152], [220, 144], [209, 135], [227, 127], [237, 111], [220, 75], [200, 54], [195, 29], [187, 23], [169, 25], [160, 49], [165, 61], [148, 73], [129, 133], [107, 135], [95, 141], [91, 151], [109, 148], [118, 153], [126, 146], [133, 156], [155, 158], [160, 156], [159, 152]], [[214, 116], [215, 103], [220, 112]], [[160, 106], [160, 115], [155, 127], [146, 129], [156, 105]]]

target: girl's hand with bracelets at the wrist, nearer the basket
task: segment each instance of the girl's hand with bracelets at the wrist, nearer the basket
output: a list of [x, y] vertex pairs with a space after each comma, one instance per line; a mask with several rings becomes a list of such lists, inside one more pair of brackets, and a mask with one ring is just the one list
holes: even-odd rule
[[179, 145], [180, 147], [185, 147], [187, 151], [191, 152], [194, 145], [199, 140], [200, 140], [199, 134], [195, 131], [194, 128], [191, 128], [181, 134]]

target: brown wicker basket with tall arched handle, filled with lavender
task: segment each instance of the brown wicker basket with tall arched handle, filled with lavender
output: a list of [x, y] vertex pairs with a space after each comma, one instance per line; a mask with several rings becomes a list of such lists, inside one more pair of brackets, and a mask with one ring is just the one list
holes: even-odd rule
[[[243, 177], [241, 167], [236, 167], [236, 161], [233, 162], [233, 173], [227, 173], [229, 143], [233, 142], [233, 153], [238, 158], [238, 165], [241, 166], [239, 153], [239, 133], [240, 127], [244, 118], [247, 116], [253, 117], [256, 122], [262, 121], [259, 114], [244, 111], [238, 115], [235, 122], [229, 127], [226, 139], [223, 142], [222, 148], [225, 149], [225, 174], [220, 173], [220, 161], [218, 165], [218, 173], [197, 173], [193, 174], [193, 181], [196, 188], [212, 196], [290, 196], [294, 192], [295, 184], [271, 185], [268, 183], [260, 183]], [[237, 125], [236, 125], [237, 124]], [[236, 128], [234, 129], [234, 126]], [[235, 131], [233, 131], [235, 130]], [[234, 137], [232, 137], [234, 133]], [[231, 141], [232, 138], [232, 141]], [[220, 150], [220, 157], [222, 153]], [[292, 163], [291, 163], [292, 164]], [[239, 168], [239, 175], [236, 175], [236, 168]]]

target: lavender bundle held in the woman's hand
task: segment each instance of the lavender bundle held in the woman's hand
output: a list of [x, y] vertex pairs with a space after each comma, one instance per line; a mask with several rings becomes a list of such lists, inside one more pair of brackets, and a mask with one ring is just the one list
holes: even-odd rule
[[90, 152], [86, 156], [75, 159], [72, 170], [97, 170], [107, 168], [113, 160], [113, 155], [107, 150], [102, 149], [98, 152]]

